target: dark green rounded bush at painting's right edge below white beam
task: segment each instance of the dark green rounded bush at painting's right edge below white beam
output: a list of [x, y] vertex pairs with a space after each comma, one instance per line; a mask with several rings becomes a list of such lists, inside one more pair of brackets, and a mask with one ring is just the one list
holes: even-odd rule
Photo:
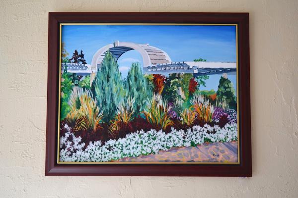
[[224, 99], [229, 107], [236, 109], [236, 97], [235, 97], [235, 90], [233, 84], [228, 78], [221, 77], [218, 91], [217, 91], [217, 99]]

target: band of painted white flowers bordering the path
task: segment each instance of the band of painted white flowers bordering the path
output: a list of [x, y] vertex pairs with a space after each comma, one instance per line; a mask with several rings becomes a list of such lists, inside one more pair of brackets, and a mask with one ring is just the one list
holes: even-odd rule
[[[69, 129], [68, 126], [66, 128]], [[148, 132], [137, 131], [119, 140], [109, 140], [104, 146], [100, 141], [90, 142], [83, 150], [85, 143], [80, 143], [81, 138], [76, 138], [73, 133], [67, 132], [64, 137], [60, 138], [60, 161], [110, 161], [123, 157], [156, 154], [159, 150], [181, 146], [189, 147], [206, 141], [230, 142], [236, 140], [237, 124], [226, 124], [224, 128], [205, 124], [204, 127], [189, 128], [186, 133], [184, 130], [177, 131], [173, 127], [168, 134], [162, 130], [155, 131], [154, 129]]]

